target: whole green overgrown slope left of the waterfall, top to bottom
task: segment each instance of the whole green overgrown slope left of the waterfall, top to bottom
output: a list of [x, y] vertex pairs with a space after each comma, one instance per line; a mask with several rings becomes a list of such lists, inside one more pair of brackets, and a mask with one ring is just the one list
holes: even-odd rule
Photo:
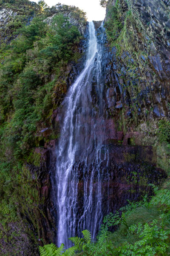
[[[0, 45], [0, 239], [12, 239], [10, 223], [23, 223], [20, 232], [24, 232], [28, 220], [26, 233], [36, 244], [42, 238], [45, 213], [39, 180], [41, 154], [34, 148], [41, 140], [45, 143], [59, 136], [51, 129], [51, 115], [67, 90], [68, 64], [81, 57], [78, 47], [82, 36], [64, 14], [68, 12], [85, 24], [85, 13], [74, 6], [49, 8], [40, 2], [0, 2], [18, 12], [3, 29], [4, 38], [10, 35], [15, 39]], [[51, 129], [48, 137], [38, 134], [42, 123], [43, 128]]]

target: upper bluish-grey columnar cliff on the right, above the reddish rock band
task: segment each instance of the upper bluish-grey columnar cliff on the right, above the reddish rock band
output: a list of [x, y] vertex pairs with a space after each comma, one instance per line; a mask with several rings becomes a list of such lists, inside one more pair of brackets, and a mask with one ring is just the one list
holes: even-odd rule
[[[111, 12], [116, 12], [116, 30], [109, 38], [113, 48], [105, 56], [108, 113], [121, 111], [127, 123], [135, 121], [142, 131], [142, 122], [170, 116], [170, 8], [163, 0], [109, 1], [106, 28]], [[154, 136], [152, 128], [148, 137]]]

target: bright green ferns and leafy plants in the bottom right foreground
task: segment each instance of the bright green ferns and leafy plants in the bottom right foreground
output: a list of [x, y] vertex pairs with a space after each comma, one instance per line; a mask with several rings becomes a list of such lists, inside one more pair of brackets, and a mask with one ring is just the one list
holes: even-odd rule
[[[84, 238], [72, 237], [74, 246], [40, 247], [41, 256], [168, 256], [170, 255], [170, 190], [154, 188], [150, 202], [130, 203], [104, 218], [97, 241], [84, 230]], [[111, 227], [119, 227], [115, 232]]]

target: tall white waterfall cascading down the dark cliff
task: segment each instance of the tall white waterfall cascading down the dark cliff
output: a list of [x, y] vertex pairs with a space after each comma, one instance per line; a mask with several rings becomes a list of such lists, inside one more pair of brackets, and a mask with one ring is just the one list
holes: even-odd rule
[[80, 235], [84, 229], [90, 230], [94, 239], [102, 223], [101, 180], [107, 173], [108, 151], [102, 146], [105, 104], [101, 57], [94, 23], [89, 22], [85, 68], [65, 97], [65, 116], [56, 152], [58, 246], [64, 243], [68, 247], [68, 237]]

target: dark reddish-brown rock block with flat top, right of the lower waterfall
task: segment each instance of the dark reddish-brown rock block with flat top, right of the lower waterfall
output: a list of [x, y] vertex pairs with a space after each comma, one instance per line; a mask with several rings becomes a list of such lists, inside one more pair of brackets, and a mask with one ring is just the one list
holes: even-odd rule
[[[152, 147], [108, 145], [109, 175], [105, 170], [102, 175], [102, 213], [107, 215], [127, 205], [127, 200], [137, 201], [147, 192], [153, 193], [150, 183], [156, 185], [167, 177], [166, 173], [155, 167], [156, 156]], [[103, 163], [103, 168], [107, 166]], [[83, 163], [81, 168], [83, 167]], [[87, 176], [89, 173], [87, 172]], [[110, 177], [108, 180], [108, 176]], [[87, 177], [88, 178], [88, 177]], [[79, 176], [79, 216], [83, 211], [83, 177]], [[94, 197], [97, 182], [94, 183]], [[89, 187], [90, 189], [90, 187]], [[104, 207], [105, 206], [105, 207]]]

